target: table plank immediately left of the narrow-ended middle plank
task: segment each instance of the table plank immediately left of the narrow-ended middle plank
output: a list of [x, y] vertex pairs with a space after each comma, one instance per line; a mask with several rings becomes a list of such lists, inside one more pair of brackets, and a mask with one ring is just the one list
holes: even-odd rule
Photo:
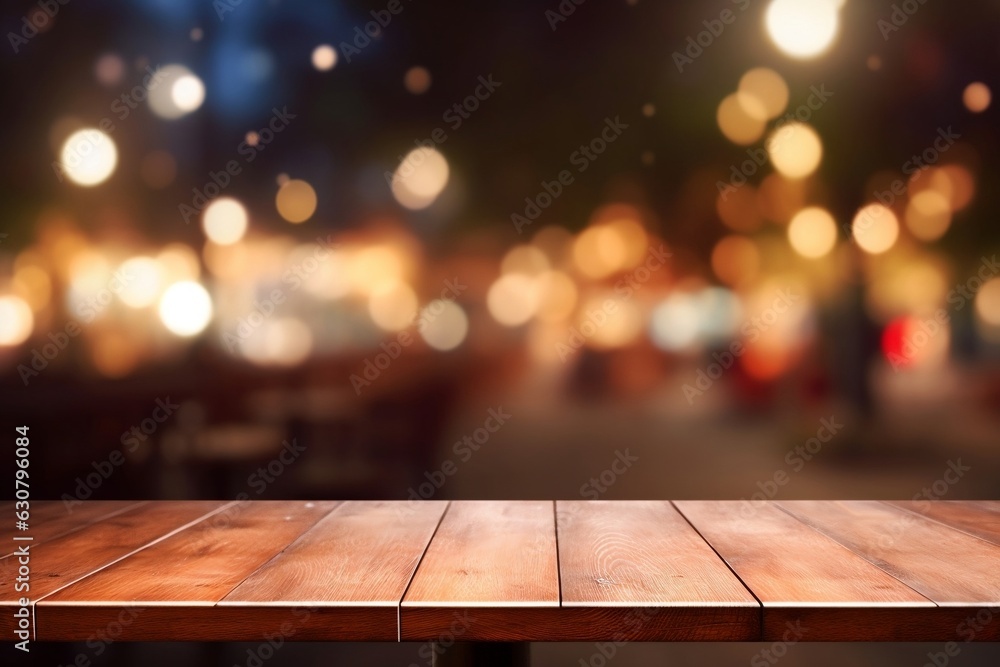
[[344, 503], [227, 595], [217, 612], [228, 618], [253, 610], [270, 630], [298, 606], [312, 610], [298, 624], [301, 639], [397, 641], [399, 601], [447, 507]]

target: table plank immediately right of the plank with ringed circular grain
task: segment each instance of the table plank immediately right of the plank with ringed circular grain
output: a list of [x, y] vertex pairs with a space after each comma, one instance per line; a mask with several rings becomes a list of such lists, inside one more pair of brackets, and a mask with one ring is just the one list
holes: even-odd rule
[[766, 641], [797, 631], [806, 641], [918, 641], [954, 629], [926, 597], [773, 503], [674, 505], [760, 600]]

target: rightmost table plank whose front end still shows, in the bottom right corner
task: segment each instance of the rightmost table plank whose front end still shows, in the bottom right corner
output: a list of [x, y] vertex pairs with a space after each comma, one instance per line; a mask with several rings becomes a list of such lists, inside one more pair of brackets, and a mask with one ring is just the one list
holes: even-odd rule
[[[950, 610], [949, 640], [1000, 608], [1000, 546], [879, 501], [781, 501], [782, 509]], [[990, 612], [991, 614], [993, 612]], [[932, 638], [932, 637], [929, 637]], [[1000, 623], [974, 637], [1000, 639]]]

